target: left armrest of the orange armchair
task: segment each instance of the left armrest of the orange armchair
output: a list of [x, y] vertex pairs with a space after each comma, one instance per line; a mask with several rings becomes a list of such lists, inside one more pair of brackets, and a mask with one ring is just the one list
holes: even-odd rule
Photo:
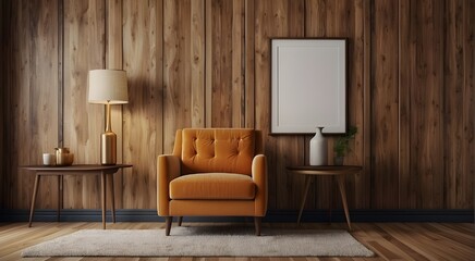
[[170, 182], [179, 177], [180, 158], [172, 154], [161, 154], [157, 158], [157, 212], [158, 215], [169, 215]]

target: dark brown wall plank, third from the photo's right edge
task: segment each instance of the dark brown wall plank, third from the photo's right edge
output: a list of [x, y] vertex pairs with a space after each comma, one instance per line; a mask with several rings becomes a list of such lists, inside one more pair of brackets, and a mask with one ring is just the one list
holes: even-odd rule
[[372, 72], [373, 199], [376, 209], [397, 209], [399, 199], [398, 2], [374, 2]]

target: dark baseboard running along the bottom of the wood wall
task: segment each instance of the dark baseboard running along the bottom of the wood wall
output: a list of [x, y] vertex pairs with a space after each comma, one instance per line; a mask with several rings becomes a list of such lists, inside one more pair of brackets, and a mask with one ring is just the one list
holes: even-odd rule
[[[0, 210], [0, 222], [27, 222], [28, 210]], [[118, 222], [162, 222], [156, 210], [115, 211]], [[352, 222], [463, 222], [475, 223], [474, 210], [350, 210]], [[247, 222], [249, 217], [185, 216], [184, 222]], [[296, 210], [269, 210], [263, 222], [296, 222]], [[100, 222], [100, 210], [61, 210], [64, 222]], [[56, 210], [36, 210], [34, 222], [57, 221]], [[110, 211], [107, 221], [111, 221]], [[342, 210], [306, 210], [302, 222], [345, 222]]]

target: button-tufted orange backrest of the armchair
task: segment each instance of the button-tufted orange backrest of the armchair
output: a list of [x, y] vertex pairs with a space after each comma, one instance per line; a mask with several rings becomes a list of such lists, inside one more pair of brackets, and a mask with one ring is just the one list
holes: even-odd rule
[[222, 172], [251, 175], [253, 158], [256, 154], [256, 130], [179, 129], [173, 154], [181, 158], [182, 174]]

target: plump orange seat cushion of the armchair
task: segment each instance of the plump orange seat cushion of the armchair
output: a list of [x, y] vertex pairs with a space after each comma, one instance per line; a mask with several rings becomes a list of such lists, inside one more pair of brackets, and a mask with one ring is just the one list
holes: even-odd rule
[[170, 183], [171, 199], [254, 199], [252, 177], [232, 173], [199, 173]]

